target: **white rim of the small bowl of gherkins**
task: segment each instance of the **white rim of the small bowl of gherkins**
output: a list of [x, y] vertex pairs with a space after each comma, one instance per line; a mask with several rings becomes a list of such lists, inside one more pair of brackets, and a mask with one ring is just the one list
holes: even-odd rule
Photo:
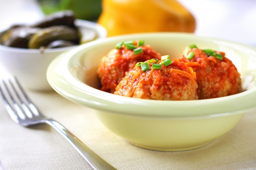
[[[75, 23], [75, 25], [86, 26], [88, 28], [95, 29], [97, 31], [98, 35], [99, 35], [99, 37], [96, 40], [101, 39], [101, 38], [106, 38], [106, 36], [107, 36], [107, 30], [105, 29], [105, 27], [101, 26], [97, 22], [76, 19], [74, 21], [74, 23]], [[7, 30], [1, 30], [0, 35], [2, 35], [2, 33], [4, 33], [5, 31], [7, 31]], [[0, 44], [0, 50], [14, 51], [14, 52], [18, 52], [18, 53], [39, 53], [39, 52], [42, 52], [42, 51], [43, 51], [43, 53], [53, 53], [53, 52], [67, 51], [67, 50], [73, 49], [77, 46], [79, 46], [79, 45], [61, 47], [61, 48], [55, 48], [55, 49], [43, 49], [42, 50], [42, 49], [22, 49], [22, 48], [4, 46], [4, 45]]]

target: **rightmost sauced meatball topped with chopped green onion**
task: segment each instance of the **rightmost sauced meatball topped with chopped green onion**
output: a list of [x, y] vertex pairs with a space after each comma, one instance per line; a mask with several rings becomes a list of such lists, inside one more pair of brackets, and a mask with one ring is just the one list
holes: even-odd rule
[[242, 92], [240, 74], [231, 60], [225, 57], [224, 52], [202, 50], [197, 47], [190, 49], [190, 52], [194, 53], [192, 59], [188, 59], [185, 54], [178, 60], [186, 62], [186, 65], [195, 71], [199, 99], [223, 97]]

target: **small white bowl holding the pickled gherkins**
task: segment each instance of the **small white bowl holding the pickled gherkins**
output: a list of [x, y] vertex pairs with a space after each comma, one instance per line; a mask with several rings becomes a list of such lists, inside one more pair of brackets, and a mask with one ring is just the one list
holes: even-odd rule
[[[91, 21], [76, 20], [76, 26], [85, 26], [95, 29], [99, 35], [97, 39], [105, 38], [106, 29]], [[0, 32], [0, 37], [4, 31]], [[69, 51], [77, 46], [45, 49], [20, 49], [0, 44], [0, 62], [6, 70], [16, 76], [22, 86], [32, 90], [52, 90], [46, 79], [46, 70], [49, 63], [63, 52]]]

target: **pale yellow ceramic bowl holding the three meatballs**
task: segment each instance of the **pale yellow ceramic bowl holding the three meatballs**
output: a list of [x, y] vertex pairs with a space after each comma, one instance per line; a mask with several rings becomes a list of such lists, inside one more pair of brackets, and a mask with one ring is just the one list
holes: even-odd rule
[[[244, 92], [215, 99], [156, 101], [100, 91], [96, 70], [101, 57], [126, 40], [145, 40], [155, 51], [172, 58], [179, 57], [190, 44], [224, 51], [241, 74]], [[151, 150], [189, 150], [229, 132], [247, 111], [256, 108], [256, 49], [193, 34], [122, 35], [60, 55], [48, 67], [47, 79], [63, 97], [97, 110], [102, 124], [131, 144]]]

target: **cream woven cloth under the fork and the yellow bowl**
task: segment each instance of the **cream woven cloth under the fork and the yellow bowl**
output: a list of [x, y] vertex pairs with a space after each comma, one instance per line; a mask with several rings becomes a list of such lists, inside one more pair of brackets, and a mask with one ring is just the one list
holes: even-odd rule
[[[110, 132], [99, 122], [94, 110], [67, 101], [55, 92], [28, 92], [42, 113], [61, 122], [119, 170], [252, 170], [256, 167], [256, 111], [245, 114], [231, 132], [207, 146], [183, 152], [158, 152], [132, 146]], [[2, 101], [0, 160], [4, 170], [92, 169], [48, 125], [25, 128], [14, 123]]]

